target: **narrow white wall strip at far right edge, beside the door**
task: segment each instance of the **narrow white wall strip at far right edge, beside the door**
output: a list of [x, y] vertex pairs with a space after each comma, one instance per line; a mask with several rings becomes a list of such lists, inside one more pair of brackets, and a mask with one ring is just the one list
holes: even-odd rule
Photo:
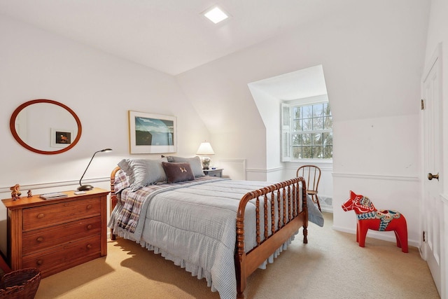
[[440, 211], [440, 267], [442, 270], [441, 297], [448, 297], [448, 2], [444, 0], [432, 0], [430, 10], [430, 22], [428, 25], [428, 40], [426, 43], [426, 67], [437, 46], [442, 44], [442, 169], [440, 179], [442, 181], [442, 194], [437, 206], [443, 207]]

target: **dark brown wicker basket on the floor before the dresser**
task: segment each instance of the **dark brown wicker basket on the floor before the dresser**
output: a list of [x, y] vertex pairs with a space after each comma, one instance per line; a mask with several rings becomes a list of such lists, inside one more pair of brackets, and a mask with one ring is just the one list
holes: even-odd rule
[[0, 281], [0, 299], [34, 298], [41, 283], [41, 271], [38, 268], [26, 268], [9, 272]]

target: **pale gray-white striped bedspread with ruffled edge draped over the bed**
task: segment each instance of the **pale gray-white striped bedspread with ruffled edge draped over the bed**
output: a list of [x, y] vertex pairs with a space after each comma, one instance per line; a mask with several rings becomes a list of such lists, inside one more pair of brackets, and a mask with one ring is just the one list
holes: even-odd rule
[[[218, 291], [221, 298], [233, 299], [237, 296], [234, 253], [239, 200], [244, 194], [269, 185], [272, 183], [219, 178], [167, 184], [167, 188], [158, 188], [145, 198], [134, 232], [117, 224], [125, 202], [122, 194], [109, 228], [120, 237], [161, 253], [198, 279], [205, 278], [211, 291]], [[309, 215], [314, 215], [309, 220], [322, 226], [322, 215], [309, 198], [307, 204]], [[255, 204], [248, 204], [244, 221], [246, 252], [256, 244], [254, 219]], [[294, 236], [260, 267], [272, 263], [293, 239]]]

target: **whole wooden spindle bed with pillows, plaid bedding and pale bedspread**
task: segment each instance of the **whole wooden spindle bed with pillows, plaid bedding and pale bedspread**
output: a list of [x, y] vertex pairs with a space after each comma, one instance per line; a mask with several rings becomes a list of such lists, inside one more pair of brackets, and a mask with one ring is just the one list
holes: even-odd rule
[[123, 159], [111, 172], [112, 239], [160, 253], [225, 299], [244, 298], [247, 277], [272, 263], [300, 228], [307, 243], [310, 208], [323, 225], [301, 177], [267, 183], [204, 176], [198, 157]]

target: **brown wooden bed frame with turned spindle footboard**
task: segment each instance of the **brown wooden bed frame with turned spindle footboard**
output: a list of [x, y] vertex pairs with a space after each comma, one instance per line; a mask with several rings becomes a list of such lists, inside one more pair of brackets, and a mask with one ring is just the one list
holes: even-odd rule
[[[120, 170], [120, 167], [113, 169], [111, 173], [111, 211], [116, 206], [118, 199], [115, 195], [115, 176]], [[300, 194], [300, 183], [302, 183], [302, 194]], [[302, 177], [297, 177], [281, 183], [276, 183], [272, 186], [253, 190], [244, 195], [240, 202], [237, 211], [237, 242], [235, 244], [235, 272], [237, 278], [237, 298], [244, 299], [244, 289], [246, 288], [247, 277], [252, 274], [269, 256], [272, 255], [282, 246], [292, 235], [303, 228], [303, 242], [308, 243], [308, 207], [307, 207], [307, 188], [305, 181]], [[262, 204], [260, 207], [260, 197], [264, 199], [271, 199], [277, 201], [277, 207], [279, 214], [279, 221], [275, 223], [274, 205], [271, 205], [270, 211], [268, 211], [267, 204]], [[275, 199], [276, 197], [276, 199]], [[256, 200], [256, 238], [257, 246], [247, 253], [244, 251], [244, 211], [246, 204], [250, 200]], [[302, 200], [302, 211], [300, 211], [300, 199]], [[288, 210], [283, 211], [280, 209], [281, 201], [283, 201], [283, 207], [286, 206], [286, 202], [292, 202]], [[264, 200], [263, 202], [267, 202]], [[260, 217], [260, 209], [263, 209], [264, 218]], [[280, 221], [282, 220], [282, 222]], [[271, 222], [271, 234], [268, 236], [268, 221]], [[283, 223], [283, 224], [282, 224]], [[277, 225], [275, 225], [277, 224]], [[276, 228], [277, 226], [277, 228]], [[264, 227], [265, 235], [264, 240], [260, 236], [260, 227]], [[116, 235], [113, 235], [111, 230], [111, 239], [116, 239]]]

